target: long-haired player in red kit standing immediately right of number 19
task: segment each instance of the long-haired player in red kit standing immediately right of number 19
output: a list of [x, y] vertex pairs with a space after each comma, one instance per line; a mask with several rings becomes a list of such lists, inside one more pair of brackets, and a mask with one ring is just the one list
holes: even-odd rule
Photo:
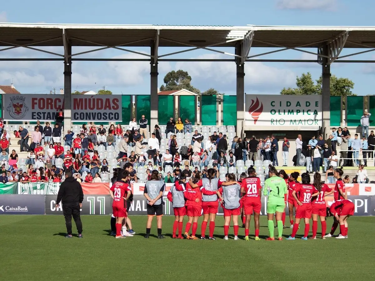
[[312, 237], [310, 239], [317, 239], [318, 231], [318, 217], [320, 218], [320, 223], [322, 224], [322, 238], [326, 235], [327, 223], [326, 223], [326, 201], [324, 197], [333, 193], [332, 188], [327, 184], [321, 182], [320, 173], [315, 173], [314, 175], [314, 193], [318, 193], [317, 197], [312, 200]]

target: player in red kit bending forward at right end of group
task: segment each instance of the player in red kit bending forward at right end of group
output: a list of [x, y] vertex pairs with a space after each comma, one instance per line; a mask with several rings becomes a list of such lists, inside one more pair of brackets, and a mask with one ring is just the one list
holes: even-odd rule
[[339, 221], [341, 235], [337, 239], [348, 238], [348, 217], [354, 215], [354, 203], [349, 200], [337, 200], [330, 207], [330, 212]]

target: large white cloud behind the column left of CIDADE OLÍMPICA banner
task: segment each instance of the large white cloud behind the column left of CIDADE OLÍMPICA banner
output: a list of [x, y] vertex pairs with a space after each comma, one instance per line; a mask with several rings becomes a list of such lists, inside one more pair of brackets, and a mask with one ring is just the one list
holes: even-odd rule
[[[218, 54], [197, 58], [218, 59]], [[224, 57], [227, 58], [227, 57]], [[234, 62], [178, 62], [175, 69], [183, 69], [192, 76], [192, 85], [204, 91], [215, 88], [220, 92], [236, 92], [236, 64]], [[245, 92], [279, 93], [283, 87], [295, 84], [296, 74], [290, 69], [279, 69], [261, 62], [245, 63]]]

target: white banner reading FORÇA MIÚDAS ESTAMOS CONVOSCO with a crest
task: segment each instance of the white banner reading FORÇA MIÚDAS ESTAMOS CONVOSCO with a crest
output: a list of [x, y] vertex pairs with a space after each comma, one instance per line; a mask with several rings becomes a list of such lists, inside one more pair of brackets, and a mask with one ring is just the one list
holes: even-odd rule
[[[64, 95], [24, 94], [4, 96], [4, 120], [56, 120], [59, 109], [64, 109]], [[122, 121], [121, 96], [72, 95], [72, 121]]]

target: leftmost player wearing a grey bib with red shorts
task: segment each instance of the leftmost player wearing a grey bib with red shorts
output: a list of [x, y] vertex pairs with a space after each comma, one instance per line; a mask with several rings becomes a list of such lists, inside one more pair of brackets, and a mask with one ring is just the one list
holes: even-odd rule
[[184, 220], [184, 216], [186, 215], [186, 207], [185, 207], [185, 197], [184, 197], [184, 191], [178, 191], [176, 189], [176, 185], [184, 184], [186, 181], [185, 176], [181, 176], [178, 182], [175, 182], [174, 185], [172, 185], [171, 189], [168, 191], [167, 198], [170, 202], [172, 202], [173, 206], [173, 212], [174, 212], [174, 223], [173, 223], [173, 232], [172, 232], [172, 238], [177, 238], [176, 236], [176, 230], [178, 227], [178, 239], [184, 239], [182, 236], [182, 224]]

